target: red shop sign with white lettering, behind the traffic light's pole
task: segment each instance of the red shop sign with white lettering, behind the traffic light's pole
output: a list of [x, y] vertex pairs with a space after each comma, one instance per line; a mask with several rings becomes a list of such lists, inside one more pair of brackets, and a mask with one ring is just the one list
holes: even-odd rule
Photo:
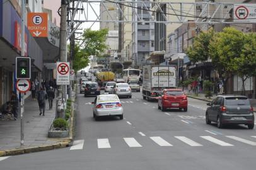
[[[15, 48], [21, 51], [21, 26], [15, 21]], [[25, 33], [25, 56], [28, 55], [28, 35]]]

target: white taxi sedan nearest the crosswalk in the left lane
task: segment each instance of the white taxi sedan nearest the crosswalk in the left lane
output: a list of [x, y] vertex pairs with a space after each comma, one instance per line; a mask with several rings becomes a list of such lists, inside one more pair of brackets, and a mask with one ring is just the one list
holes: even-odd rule
[[123, 108], [116, 94], [102, 94], [95, 98], [93, 104], [93, 118], [98, 120], [100, 116], [119, 116], [123, 119]]

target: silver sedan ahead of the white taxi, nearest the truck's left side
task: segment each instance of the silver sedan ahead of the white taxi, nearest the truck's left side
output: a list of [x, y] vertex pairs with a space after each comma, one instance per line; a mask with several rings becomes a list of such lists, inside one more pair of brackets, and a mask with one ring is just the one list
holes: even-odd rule
[[132, 98], [132, 90], [127, 83], [117, 83], [113, 86], [113, 94], [117, 96], [126, 96], [127, 98]]

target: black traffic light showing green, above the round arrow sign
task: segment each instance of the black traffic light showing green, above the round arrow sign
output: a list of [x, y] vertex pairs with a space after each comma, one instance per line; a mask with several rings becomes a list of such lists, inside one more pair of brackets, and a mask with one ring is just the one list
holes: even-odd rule
[[16, 57], [16, 79], [30, 79], [30, 57]]

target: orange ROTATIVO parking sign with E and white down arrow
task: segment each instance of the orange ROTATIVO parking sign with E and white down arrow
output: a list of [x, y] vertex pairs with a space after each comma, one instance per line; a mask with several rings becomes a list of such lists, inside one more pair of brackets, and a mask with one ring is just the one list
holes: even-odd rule
[[28, 30], [33, 37], [48, 36], [48, 14], [28, 13]]

